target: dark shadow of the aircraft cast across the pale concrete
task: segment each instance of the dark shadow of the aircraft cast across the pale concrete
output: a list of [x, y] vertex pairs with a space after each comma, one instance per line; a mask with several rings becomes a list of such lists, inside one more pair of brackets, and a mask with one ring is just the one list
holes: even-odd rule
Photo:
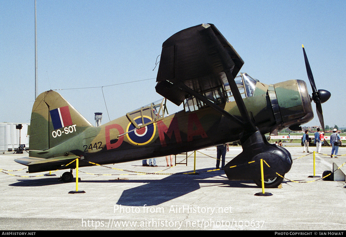
[[[163, 179], [112, 179], [112, 180], [82, 180], [80, 183], [144, 183], [135, 188], [124, 190], [117, 201], [122, 206], [155, 206], [166, 201], [181, 197], [201, 187], [219, 186], [224, 188], [256, 188], [253, 181], [230, 181], [223, 171], [206, 172], [209, 169], [197, 170], [199, 175], [174, 174]], [[208, 179], [213, 178], [213, 179]], [[35, 187], [63, 184], [57, 178], [22, 179], [9, 186]]]

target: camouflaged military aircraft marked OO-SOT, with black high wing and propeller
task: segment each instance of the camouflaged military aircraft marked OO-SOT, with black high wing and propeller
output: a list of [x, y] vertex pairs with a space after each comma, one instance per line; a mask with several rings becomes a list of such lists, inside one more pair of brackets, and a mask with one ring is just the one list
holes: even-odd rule
[[[265, 185], [277, 187], [283, 179], [276, 172], [284, 176], [292, 159], [284, 148], [269, 144], [264, 134], [284, 127], [301, 130], [300, 125], [313, 118], [311, 99], [303, 80], [265, 85], [246, 73], [237, 76], [243, 64], [214, 25], [179, 31], [162, 46], [155, 88], [164, 99], [94, 127], [60, 94], [43, 92], [31, 114], [29, 157], [15, 161], [27, 165], [29, 173], [70, 169], [62, 175], [67, 182], [75, 168], [75, 162], [69, 163], [76, 158], [84, 167], [93, 165], [89, 162], [142, 160], [240, 140], [243, 152], [225, 166], [227, 177], [257, 180], [260, 185], [256, 161], [263, 158], [270, 165], [265, 165]], [[320, 105], [330, 93], [316, 90], [311, 70], [308, 76], [322, 124]], [[184, 110], [169, 115], [167, 99], [183, 103]]]

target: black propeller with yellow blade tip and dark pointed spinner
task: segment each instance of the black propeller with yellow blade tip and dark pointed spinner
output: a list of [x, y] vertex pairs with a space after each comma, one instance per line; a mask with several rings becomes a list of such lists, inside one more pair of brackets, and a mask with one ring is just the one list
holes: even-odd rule
[[306, 72], [308, 73], [308, 78], [309, 78], [309, 81], [310, 81], [310, 84], [312, 87], [312, 99], [316, 103], [317, 116], [318, 116], [318, 119], [320, 120], [323, 132], [326, 133], [321, 103], [326, 102], [330, 98], [330, 92], [326, 91], [326, 90], [317, 90], [316, 89], [315, 80], [313, 79], [313, 76], [312, 76], [308, 57], [306, 56], [304, 45], [302, 45], [302, 46], [303, 46]]

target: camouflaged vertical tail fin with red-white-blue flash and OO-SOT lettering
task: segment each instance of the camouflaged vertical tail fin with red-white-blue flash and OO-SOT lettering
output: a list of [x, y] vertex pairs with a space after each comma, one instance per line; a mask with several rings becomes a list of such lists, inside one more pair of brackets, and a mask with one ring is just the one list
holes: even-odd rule
[[37, 96], [31, 112], [30, 150], [47, 150], [92, 126], [59, 93], [46, 91]]

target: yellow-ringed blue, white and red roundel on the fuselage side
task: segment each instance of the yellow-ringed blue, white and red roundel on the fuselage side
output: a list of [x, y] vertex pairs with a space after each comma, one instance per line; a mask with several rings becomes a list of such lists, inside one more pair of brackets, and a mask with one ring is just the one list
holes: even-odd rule
[[[142, 117], [138, 116], [135, 122], [140, 126], [142, 125]], [[151, 118], [148, 116], [143, 116], [144, 124], [151, 122]], [[129, 132], [130, 131], [130, 132]], [[155, 136], [156, 125], [155, 123], [149, 124], [148, 126], [136, 129], [133, 123], [129, 123], [126, 128], [126, 134], [128, 140], [135, 145], [145, 145], [151, 142]]]

